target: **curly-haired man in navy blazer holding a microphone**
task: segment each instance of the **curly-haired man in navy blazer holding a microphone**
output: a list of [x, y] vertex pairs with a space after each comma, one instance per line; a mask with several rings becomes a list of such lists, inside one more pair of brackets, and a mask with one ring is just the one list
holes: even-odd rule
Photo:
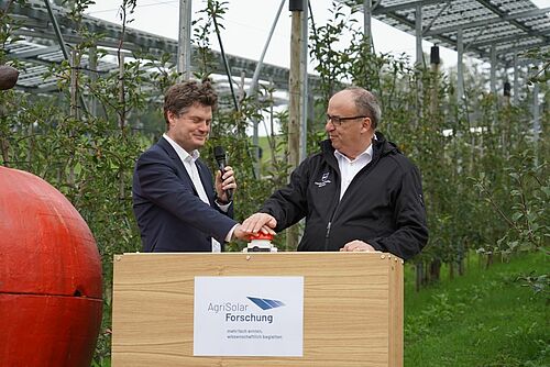
[[217, 103], [209, 81], [177, 84], [164, 97], [166, 133], [138, 159], [132, 185], [144, 252], [221, 252], [226, 241], [245, 240], [227, 196], [233, 169], [212, 181], [199, 159]]

